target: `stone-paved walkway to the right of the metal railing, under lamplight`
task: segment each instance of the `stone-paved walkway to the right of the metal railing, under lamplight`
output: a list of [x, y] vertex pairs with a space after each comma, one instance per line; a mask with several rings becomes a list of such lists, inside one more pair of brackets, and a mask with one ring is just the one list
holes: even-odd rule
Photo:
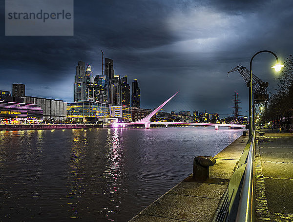
[[293, 222], [293, 133], [261, 130], [256, 147], [256, 222]]

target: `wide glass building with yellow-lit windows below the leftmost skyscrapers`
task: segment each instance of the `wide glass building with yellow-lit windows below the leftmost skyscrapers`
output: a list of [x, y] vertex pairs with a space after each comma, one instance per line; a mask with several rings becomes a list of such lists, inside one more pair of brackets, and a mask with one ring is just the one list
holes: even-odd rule
[[110, 116], [111, 105], [81, 101], [67, 103], [67, 122], [111, 123], [118, 122], [118, 118]]

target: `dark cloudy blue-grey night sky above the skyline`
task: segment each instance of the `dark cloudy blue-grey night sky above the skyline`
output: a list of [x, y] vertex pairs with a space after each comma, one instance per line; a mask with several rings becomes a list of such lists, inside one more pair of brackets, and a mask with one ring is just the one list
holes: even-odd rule
[[[2, 1], [4, 2], [4, 1]], [[101, 74], [101, 49], [114, 60], [115, 74], [138, 79], [141, 108], [153, 109], [177, 91], [166, 111], [230, 114], [235, 90], [242, 114], [248, 88], [237, 65], [272, 50], [281, 61], [293, 54], [292, 0], [98, 0], [74, 2], [73, 37], [5, 37], [0, 23], [0, 89], [23, 83], [26, 95], [73, 101], [79, 60]], [[260, 54], [253, 73], [278, 80], [275, 59]]]

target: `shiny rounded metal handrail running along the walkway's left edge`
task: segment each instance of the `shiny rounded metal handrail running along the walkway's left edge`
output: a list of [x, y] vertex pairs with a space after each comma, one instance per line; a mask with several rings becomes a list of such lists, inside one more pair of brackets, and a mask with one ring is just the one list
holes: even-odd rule
[[236, 222], [252, 222], [254, 217], [254, 157], [255, 157], [255, 129], [251, 138], [251, 146], [247, 157], [247, 166], [244, 171]]

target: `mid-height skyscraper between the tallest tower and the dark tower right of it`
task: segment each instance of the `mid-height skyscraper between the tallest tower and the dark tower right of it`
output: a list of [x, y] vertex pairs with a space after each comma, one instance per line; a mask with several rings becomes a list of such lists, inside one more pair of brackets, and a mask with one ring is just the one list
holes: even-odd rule
[[121, 105], [121, 79], [119, 75], [114, 75], [109, 80], [109, 104], [114, 106]]

